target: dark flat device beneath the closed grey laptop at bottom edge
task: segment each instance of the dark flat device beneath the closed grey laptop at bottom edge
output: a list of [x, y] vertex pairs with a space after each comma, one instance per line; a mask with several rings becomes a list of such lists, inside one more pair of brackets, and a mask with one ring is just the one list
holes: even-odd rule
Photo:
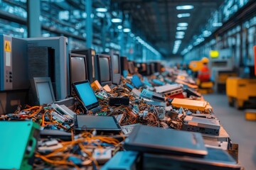
[[142, 169], [223, 169], [240, 170], [241, 166], [223, 149], [207, 147], [208, 154], [203, 158], [182, 157], [163, 154], [144, 154]]

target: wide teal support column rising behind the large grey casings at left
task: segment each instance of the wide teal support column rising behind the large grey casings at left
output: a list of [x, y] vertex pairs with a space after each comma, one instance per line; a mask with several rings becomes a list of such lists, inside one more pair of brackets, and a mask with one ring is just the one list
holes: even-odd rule
[[28, 38], [41, 37], [40, 0], [27, 0]]

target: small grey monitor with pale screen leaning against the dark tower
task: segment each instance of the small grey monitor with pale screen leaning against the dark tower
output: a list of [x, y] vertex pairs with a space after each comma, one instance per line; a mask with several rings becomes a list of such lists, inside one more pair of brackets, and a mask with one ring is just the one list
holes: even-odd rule
[[31, 79], [31, 89], [33, 91], [33, 96], [35, 97], [34, 104], [43, 105], [55, 101], [50, 77], [33, 77], [33, 79]]

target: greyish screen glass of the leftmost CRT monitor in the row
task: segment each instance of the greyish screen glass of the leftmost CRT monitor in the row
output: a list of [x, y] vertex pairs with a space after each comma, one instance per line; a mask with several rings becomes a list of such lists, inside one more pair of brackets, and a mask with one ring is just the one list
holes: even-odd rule
[[85, 81], [85, 58], [84, 57], [71, 57], [71, 81]]

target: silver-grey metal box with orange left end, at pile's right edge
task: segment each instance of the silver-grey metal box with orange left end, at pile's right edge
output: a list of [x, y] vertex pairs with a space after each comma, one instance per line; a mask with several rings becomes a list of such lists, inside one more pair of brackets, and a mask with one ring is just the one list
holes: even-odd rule
[[183, 120], [182, 130], [201, 132], [209, 135], [219, 135], [220, 122], [215, 119], [198, 118], [186, 115]]

